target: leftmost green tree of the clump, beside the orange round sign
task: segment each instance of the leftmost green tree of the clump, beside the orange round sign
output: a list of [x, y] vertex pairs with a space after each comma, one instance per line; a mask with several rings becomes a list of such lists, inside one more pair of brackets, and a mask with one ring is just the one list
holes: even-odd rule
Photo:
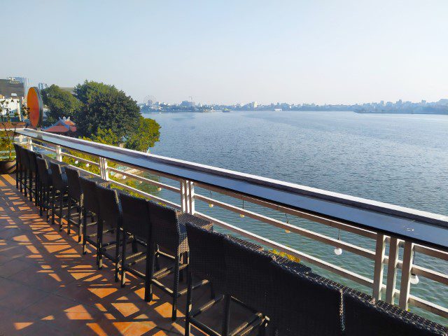
[[62, 117], [70, 118], [76, 123], [76, 117], [82, 104], [73, 94], [54, 84], [41, 92], [43, 104], [48, 108], [45, 121], [47, 125], [55, 123]]

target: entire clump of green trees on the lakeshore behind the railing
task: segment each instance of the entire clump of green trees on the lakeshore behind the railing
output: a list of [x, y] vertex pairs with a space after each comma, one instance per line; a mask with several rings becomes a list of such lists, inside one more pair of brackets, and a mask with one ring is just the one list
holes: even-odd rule
[[160, 125], [141, 116], [137, 102], [113, 85], [85, 80], [73, 94], [51, 85], [42, 98], [48, 109], [45, 125], [70, 118], [78, 137], [136, 151], [146, 152], [159, 141]]

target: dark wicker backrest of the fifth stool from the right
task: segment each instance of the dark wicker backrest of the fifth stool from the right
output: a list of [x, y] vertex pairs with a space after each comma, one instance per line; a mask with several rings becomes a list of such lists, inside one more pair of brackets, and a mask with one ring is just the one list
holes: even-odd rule
[[154, 202], [148, 202], [148, 205], [151, 218], [151, 239], [155, 244], [176, 252], [181, 236], [177, 211]]

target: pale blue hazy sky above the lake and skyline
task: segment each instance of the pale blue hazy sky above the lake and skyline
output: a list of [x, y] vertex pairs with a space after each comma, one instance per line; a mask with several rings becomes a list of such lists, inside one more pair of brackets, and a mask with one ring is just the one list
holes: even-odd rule
[[448, 1], [2, 0], [0, 78], [138, 102], [448, 98]]

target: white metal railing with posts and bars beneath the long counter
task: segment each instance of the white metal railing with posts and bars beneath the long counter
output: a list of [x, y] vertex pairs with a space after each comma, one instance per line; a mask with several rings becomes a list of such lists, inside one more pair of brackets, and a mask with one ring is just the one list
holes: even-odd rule
[[[170, 207], [181, 209], [181, 211], [195, 214], [195, 216], [212, 221], [214, 224], [224, 228], [225, 230], [230, 230], [238, 235], [253, 241], [257, 241], [268, 248], [274, 248], [277, 251], [287, 253], [288, 255], [293, 255], [294, 257], [300, 258], [300, 260], [308, 262], [311, 265], [325, 269], [326, 271], [337, 274], [345, 279], [355, 281], [360, 285], [367, 286], [367, 288], [371, 288], [372, 295], [377, 300], [382, 299], [392, 304], [397, 301], [402, 309], [408, 309], [410, 304], [433, 314], [437, 314], [438, 316], [442, 316], [442, 318], [448, 318], [448, 295], [446, 295], [448, 293], [448, 266], [447, 269], [435, 270], [414, 265], [413, 263], [415, 253], [419, 253], [421, 255], [428, 255], [430, 258], [441, 260], [442, 263], [446, 263], [444, 265], [448, 265], [448, 253], [446, 250], [442, 251], [429, 245], [415, 244], [411, 240], [391, 237], [390, 235], [385, 235], [384, 232], [370, 230], [362, 228], [359, 225], [353, 225], [353, 223], [328, 218], [328, 216], [323, 216], [316, 211], [303, 211], [300, 209], [293, 209], [292, 207], [286, 207], [276, 202], [267, 202], [265, 199], [260, 197], [253, 197], [251, 195], [236, 192], [232, 189], [232, 185], [227, 186], [227, 188], [223, 188], [222, 186], [214, 186], [210, 183], [204, 183], [202, 181], [185, 179], [179, 175], [172, 174], [172, 172], [164, 172], [160, 168], [144, 168], [141, 167], [141, 163], [139, 163], [141, 161], [138, 160], [123, 162], [123, 160], [111, 160], [111, 158], [105, 158], [97, 155], [98, 148], [103, 151], [102, 153], [106, 153], [104, 151], [113, 150], [114, 153], [123, 153], [131, 156], [134, 155], [134, 151], [107, 145], [93, 144], [80, 139], [67, 140], [66, 137], [62, 136], [52, 135], [51, 137], [46, 137], [42, 135], [44, 134], [43, 132], [28, 132], [27, 130], [20, 130], [18, 133], [22, 134], [22, 137], [25, 137], [27, 146], [34, 151], [40, 151], [41, 153], [55, 156], [57, 160], [61, 161], [64, 159], [76, 160], [76, 165], [83, 166], [83, 169], [86, 171], [91, 170], [91, 167], [97, 167], [97, 169], [99, 169], [99, 174], [96, 174], [97, 176], [101, 176], [106, 180], [111, 180], [111, 183], [115, 184], [119, 188], [130, 190], [132, 193], [137, 193], [156, 202], [162, 202]], [[70, 145], [71, 142], [73, 142], [73, 146]], [[62, 146], [62, 144], [66, 146]], [[83, 146], [80, 147], [78, 144], [82, 144]], [[76, 155], [77, 153], [90, 155], [92, 160], [80, 158], [79, 154]], [[141, 153], [139, 155], [139, 160], [141, 158], [153, 160], [153, 158], [160, 157], [157, 157], [157, 155]], [[169, 160], [167, 158], [165, 159]], [[86, 167], [87, 165], [88, 167]], [[133, 172], [129, 172], [126, 169], [118, 169], [117, 165], [132, 168]], [[179, 167], [179, 162], [173, 164], [173, 167], [174, 165]], [[195, 164], [188, 162], [188, 165], [185, 167], [191, 169], [192, 165]], [[202, 165], [197, 166], [204, 167]], [[135, 173], [136, 169], [139, 173]], [[214, 174], [214, 169], [214, 167], [207, 167], [207, 172]], [[90, 172], [90, 174], [93, 173]], [[117, 174], [121, 176], [120, 181], [113, 178], [113, 176]], [[239, 173], [232, 172], [232, 174]], [[216, 168], [216, 175], [222, 176], [223, 170]], [[157, 179], [154, 179], [153, 176], [158, 176], [159, 178], [164, 179], [164, 181], [166, 180], [166, 183], [157, 181]], [[171, 198], [171, 200], [168, 200], [167, 198], [161, 197], [160, 193], [155, 195], [155, 193], [140, 190], [135, 186], [130, 186], [129, 183], [124, 182], [125, 179], [128, 179], [128, 181], [136, 181], [137, 183], [144, 183], [148, 186], [153, 186], [153, 188], [157, 188], [158, 191], [168, 190], [169, 193], [174, 196], [167, 197]], [[217, 194], [217, 197], [212, 197], [211, 193]], [[175, 198], [177, 199], [177, 202], [174, 200]], [[312, 239], [313, 241], [318, 241], [335, 248], [341, 248], [344, 251], [353, 253], [367, 260], [371, 260], [374, 265], [373, 272], [371, 276], [358, 274], [354, 272], [353, 269], [346, 269], [340, 265], [335, 265], [335, 263], [323, 260], [323, 258], [317, 258], [316, 256], [311, 255], [312, 253], [304, 253], [304, 251], [300, 251], [300, 248], [293, 248], [287, 246], [286, 244], [281, 244], [274, 241], [273, 239], [269, 239], [266, 237], [267, 235], [260, 234], [260, 232], [257, 234], [253, 232], [253, 230], [240, 228], [239, 225], [235, 225], [235, 223], [228, 223], [228, 221], [224, 221], [222, 219], [215, 218], [210, 214], [206, 214], [206, 211], [197, 211], [196, 202], [203, 202], [210, 208], [218, 207], [220, 209], [224, 209], [225, 211], [231, 211], [232, 213], [238, 214], [241, 217], [252, 218], [253, 220], [265, 223], [273, 228], [283, 230], [284, 232], [307, 237], [307, 239]], [[242, 202], [241, 206], [235, 205], [239, 202]], [[281, 218], [281, 216], [267, 216], [266, 214], [260, 214], [261, 211], [249, 210], [247, 206], [244, 207], [245, 203], [251, 204], [256, 209], [267, 209], [272, 211], [272, 214], [274, 214], [274, 212], [276, 214], [283, 214], [286, 216], [286, 221], [279, 220], [278, 218]], [[263, 212], [266, 213], [266, 211]], [[419, 216], [425, 216], [426, 214], [422, 211], [416, 212], [419, 213]], [[293, 216], [293, 218], [300, 218], [301, 220], [311, 221], [313, 223], [317, 223], [318, 225], [336, 228], [337, 230], [349, 232], [351, 235], [363, 237], [363, 239], [366, 239], [367, 241], [373, 241], [374, 244], [371, 245], [374, 246], [374, 248], [358, 246], [348, 241], [343, 241], [342, 239], [330, 237], [330, 235], [325, 235], [321, 232], [304, 228], [302, 225], [293, 225], [289, 223], [287, 217], [288, 215]], [[444, 216], [434, 214], [428, 214], [428, 217], [444, 218]], [[444, 227], [442, 226], [442, 228]], [[448, 232], [448, 226], [444, 228], [444, 230]], [[402, 257], [399, 258], [399, 255], [402, 255]], [[442, 295], [442, 305], [426, 300], [426, 298], [417, 297], [410, 294], [410, 288], [412, 285], [411, 278], [413, 275], [430, 279], [430, 281], [435, 281], [442, 286], [442, 292], [440, 293], [440, 295]], [[397, 288], [398, 276], [400, 276], [400, 288]], [[445, 295], [444, 298], [443, 295]]]

